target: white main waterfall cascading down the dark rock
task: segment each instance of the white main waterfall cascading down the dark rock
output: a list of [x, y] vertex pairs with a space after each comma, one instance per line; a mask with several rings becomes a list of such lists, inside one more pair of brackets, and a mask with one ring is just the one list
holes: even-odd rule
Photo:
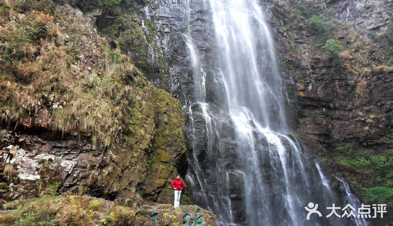
[[213, 211], [220, 225], [366, 225], [327, 214], [307, 220], [309, 202], [326, 211], [336, 199], [319, 165], [309, 164], [287, 135], [287, 96], [261, 6], [256, 0], [205, 5], [213, 13], [214, 68], [201, 66], [184, 35], [195, 87], [184, 109], [192, 150], [186, 180], [196, 204]]

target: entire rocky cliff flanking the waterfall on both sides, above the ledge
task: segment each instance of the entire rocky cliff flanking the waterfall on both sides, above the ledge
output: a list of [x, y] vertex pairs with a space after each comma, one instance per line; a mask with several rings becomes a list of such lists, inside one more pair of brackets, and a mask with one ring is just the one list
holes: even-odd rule
[[[129, 206], [172, 202], [168, 186], [187, 171], [185, 150], [202, 150], [203, 159], [207, 142], [201, 107], [190, 106], [187, 38], [207, 79], [219, 79], [211, 12], [206, 2], [189, 4], [0, 1], [0, 198], [55, 187]], [[365, 204], [391, 205], [392, 2], [261, 4], [297, 111], [288, 121], [305, 151], [349, 180]], [[206, 91], [222, 103], [222, 87]], [[233, 128], [222, 129], [233, 148]]]

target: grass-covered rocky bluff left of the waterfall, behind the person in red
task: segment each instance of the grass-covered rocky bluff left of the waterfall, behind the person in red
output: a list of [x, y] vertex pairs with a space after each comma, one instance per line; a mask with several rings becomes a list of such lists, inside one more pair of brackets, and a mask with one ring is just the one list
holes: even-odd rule
[[187, 166], [180, 102], [70, 4], [0, 3], [0, 198], [55, 187], [128, 206], [173, 202], [169, 185]]

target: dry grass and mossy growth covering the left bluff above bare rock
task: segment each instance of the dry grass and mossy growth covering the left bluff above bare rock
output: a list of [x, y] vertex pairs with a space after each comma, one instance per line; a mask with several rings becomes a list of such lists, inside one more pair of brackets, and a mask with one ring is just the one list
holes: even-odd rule
[[[21, 129], [28, 118], [62, 135], [90, 136], [94, 148], [109, 147], [121, 134], [131, 150], [147, 149], [158, 136], [158, 112], [180, 108], [178, 102], [154, 88], [129, 57], [110, 51], [105, 38], [73, 24], [72, 12], [27, 9], [21, 20], [0, 26], [0, 124]], [[102, 44], [83, 48], [90, 43]], [[87, 70], [81, 57], [95, 64]], [[181, 112], [170, 114], [176, 114], [169, 119], [176, 125], [162, 134], [182, 127]], [[171, 136], [182, 136], [182, 130]]]

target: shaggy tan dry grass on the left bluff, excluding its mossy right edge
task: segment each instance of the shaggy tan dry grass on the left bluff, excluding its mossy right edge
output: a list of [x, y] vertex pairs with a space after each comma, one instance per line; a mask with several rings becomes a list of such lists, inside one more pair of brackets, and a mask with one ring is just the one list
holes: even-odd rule
[[[11, 2], [15, 7], [17, 2]], [[56, 44], [66, 35], [55, 22], [58, 21], [53, 15], [33, 10], [18, 22], [8, 22], [0, 28], [4, 41], [0, 48], [5, 50], [2, 59], [9, 59], [2, 62], [0, 72], [1, 123], [16, 128], [26, 117], [39, 123], [37, 112], [49, 106], [54, 130], [62, 134], [92, 132], [94, 146], [101, 140], [108, 147], [121, 130], [135, 132], [129, 126], [133, 124], [130, 112], [127, 114], [125, 109], [132, 106], [133, 99], [144, 103], [136, 86], [147, 81], [136, 78], [142, 77], [139, 70], [127, 56], [116, 51], [115, 56], [104, 54], [105, 68], [100, 75], [96, 69], [75, 70], [70, 66], [74, 63], [70, 47]], [[31, 37], [29, 32], [37, 34]], [[134, 83], [129, 77], [134, 77]]]

